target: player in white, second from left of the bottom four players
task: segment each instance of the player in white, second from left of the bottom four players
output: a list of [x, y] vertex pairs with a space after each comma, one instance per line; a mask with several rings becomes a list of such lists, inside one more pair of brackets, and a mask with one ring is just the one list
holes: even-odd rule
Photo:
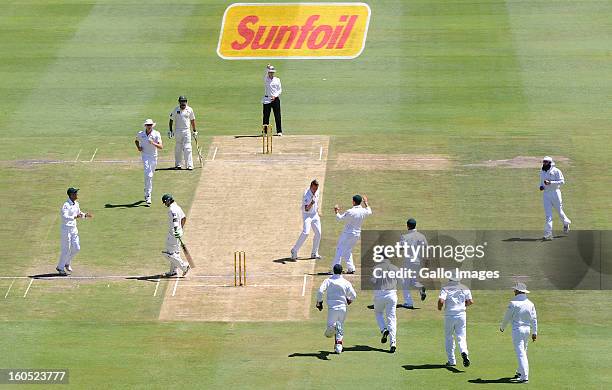
[[[381, 333], [380, 342], [385, 344], [389, 338], [389, 351], [394, 353], [397, 349], [397, 279], [399, 268], [385, 259], [376, 265], [375, 269], [381, 273], [380, 278], [373, 278], [374, 315]], [[380, 270], [380, 271], [378, 271]]]

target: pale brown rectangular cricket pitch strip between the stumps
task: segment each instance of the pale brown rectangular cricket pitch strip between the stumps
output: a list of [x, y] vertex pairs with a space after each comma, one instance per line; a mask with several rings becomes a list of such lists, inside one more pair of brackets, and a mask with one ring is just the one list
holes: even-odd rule
[[[168, 283], [165, 321], [298, 321], [307, 319], [315, 261], [312, 237], [300, 259], [290, 249], [301, 231], [300, 203], [310, 181], [325, 185], [329, 138], [216, 137], [206, 155], [185, 243], [196, 263]], [[234, 252], [246, 253], [247, 286], [234, 287]]]

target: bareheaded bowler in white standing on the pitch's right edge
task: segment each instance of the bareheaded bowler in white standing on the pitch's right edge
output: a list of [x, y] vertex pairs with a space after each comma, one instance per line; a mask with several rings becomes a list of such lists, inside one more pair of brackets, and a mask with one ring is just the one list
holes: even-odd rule
[[319, 216], [319, 182], [315, 179], [310, 182], [310, 187], [304, 192], [302, 198], [302, 233], [291, 248], [291, 259], [297, 260], [300, 248], [308, 238], [310, 229], [314, 230], [314, 239], [312, 240], [312, 251], [310, 252], [311, 259], [320, 259], [319, 245], [321, 244], [321, 217]]

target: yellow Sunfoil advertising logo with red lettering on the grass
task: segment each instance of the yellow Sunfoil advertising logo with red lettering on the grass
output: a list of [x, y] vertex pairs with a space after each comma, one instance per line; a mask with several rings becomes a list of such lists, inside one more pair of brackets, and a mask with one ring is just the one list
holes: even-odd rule
[[351, 59], [365, 47], [365, 3], [235, 3], [223, 15], [217, 54], [228, 60]]

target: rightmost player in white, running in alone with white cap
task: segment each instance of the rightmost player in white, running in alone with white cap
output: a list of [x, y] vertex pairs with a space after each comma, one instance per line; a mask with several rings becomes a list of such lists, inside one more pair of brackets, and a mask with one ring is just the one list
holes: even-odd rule
[[563, 220], [563, 232], [569, 232], [569, 225], [572, 223], [563, 212], [563, 200], [561, 198], [561, 185], [565, 184], [563, 173], [555, 167], [551, 157], [546, 156], [542, 159], [542, 171], [540, 172], [540, 191], [543, 191], [542, 201], [544, 202], [544, 239], [552, 240], [552, 211], [557, 210], [559, 217]]

